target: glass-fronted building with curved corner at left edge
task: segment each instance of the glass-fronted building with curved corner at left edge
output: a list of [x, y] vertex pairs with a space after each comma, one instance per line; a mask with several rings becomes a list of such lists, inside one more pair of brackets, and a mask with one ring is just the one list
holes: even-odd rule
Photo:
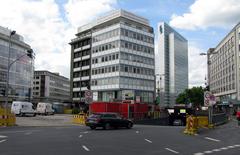
[[[33, 59], [27, 56], [31, 47], [23, 37], [0, 26], [0, 103], [5, 101], [8, 57], [11, 65], [9, 72], [9, 101], [29, 100], [32, 97]], [[10, 52], [10, 53], [9, 53]], [[16, 59], [19, 59], [15, 62]], [[15, 63], [13, 63], [15, 62]]]

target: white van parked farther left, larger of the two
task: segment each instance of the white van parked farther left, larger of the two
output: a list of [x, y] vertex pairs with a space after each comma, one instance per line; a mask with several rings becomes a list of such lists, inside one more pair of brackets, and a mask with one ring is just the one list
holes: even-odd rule
[[31, 102], [13, 101], [11, 112], [19, 116], [36, 116], [36, 111], [33, 109], [33, 104]]

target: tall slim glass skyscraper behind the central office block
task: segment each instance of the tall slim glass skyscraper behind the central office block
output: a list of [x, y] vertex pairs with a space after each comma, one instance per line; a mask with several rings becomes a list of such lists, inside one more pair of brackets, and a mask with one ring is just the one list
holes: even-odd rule
[[158, 24], [157, 85], [161, 105], [175, 104], [179, 93], [188, 88], [188, 42], [165, 22]]

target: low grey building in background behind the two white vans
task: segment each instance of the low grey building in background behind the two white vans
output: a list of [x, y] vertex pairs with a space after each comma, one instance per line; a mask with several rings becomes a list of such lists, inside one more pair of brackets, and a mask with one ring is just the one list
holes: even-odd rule
[[34, 71], [33, 102], [69, 102], [70, 81], [49, 71]]

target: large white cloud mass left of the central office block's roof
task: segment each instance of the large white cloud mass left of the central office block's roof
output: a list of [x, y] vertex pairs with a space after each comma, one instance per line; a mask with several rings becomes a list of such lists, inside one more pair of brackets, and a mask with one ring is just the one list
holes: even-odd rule
[[77, 27], [112, 9], [115, 0], [69, 0], [61, 16], [54, 0], [1, 1], [0, 25], [16, 30], [36, 53], [35, 69], [69, 77], [70, 45]]

